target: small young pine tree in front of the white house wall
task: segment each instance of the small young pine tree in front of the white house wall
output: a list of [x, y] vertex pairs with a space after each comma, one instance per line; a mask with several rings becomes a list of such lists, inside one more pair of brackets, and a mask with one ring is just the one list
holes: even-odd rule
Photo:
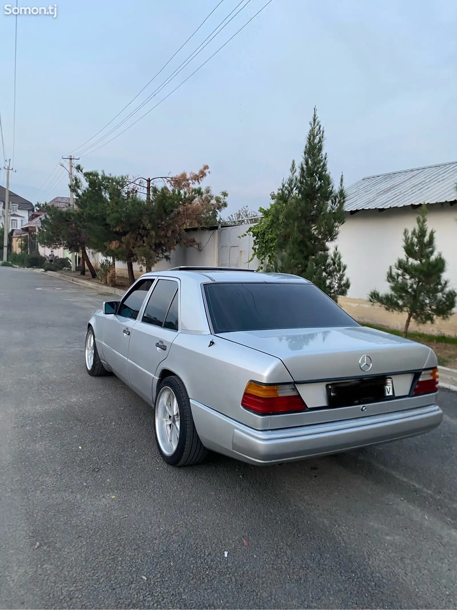
[[435, 232], [428, 231], [425, 206], [417, 216], [417, 226], [403, 233], [405, 258], [398, 259], [387, 271], [389, 292], [372, 290], [369, 300], [383, 305], [387, 311], [406, 312], [403, 336], [408, 336], [411, 320], [418, 324], [433, 323], [435, 318], [447, 319], [456, 306], [457, 293], [443, 279], [446, 262], [436, 253]]

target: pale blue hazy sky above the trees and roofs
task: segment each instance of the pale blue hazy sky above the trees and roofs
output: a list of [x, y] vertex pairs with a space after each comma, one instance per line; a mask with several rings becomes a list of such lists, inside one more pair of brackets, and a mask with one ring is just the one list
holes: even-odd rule
[[[27, 2], [18, 5], [45, 4]], [[13, 157], [17, 21], [16, 171], [10, 188], [32, 203], [68, 196], [61, 157], [81, 150], [112, 120], [218, 2], [57, 0], [56, 18], [17, 20], [0, 8], [7, 158]], [[103, 142], [184, 81], [267, 0], [246, 2], [184, 70]], [[171, 76], [237, 4], [223, 0], [89, 144]], [[456, 31], [455, 0], [272, 0], [145, 118], [103, 148], [79, 155], [79, 162], [85, 170], [151, 178], [207, 164], [205, 184], [228, 191], [227, 213], [243, 205], [256, 210], [268, 205], [292, 159], [300, 160], [314, 106], [335, 182], [341, 173], [350, 185], [364, 176], [455, 161]]]

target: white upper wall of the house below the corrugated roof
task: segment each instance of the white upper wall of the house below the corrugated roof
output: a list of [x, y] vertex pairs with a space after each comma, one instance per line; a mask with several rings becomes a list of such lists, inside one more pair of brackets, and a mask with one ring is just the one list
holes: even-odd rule
[[[427, 209], [428, 227], [436, 231], [437, 251], [447, 262], [446, 276], [457, 289], [457, 206], [433, 204]], [[365, 299], [370, 290], [388, 289], [387, 270], [403, 256], [403, 231], [416, 226], [418, 211], [408, 206], [347, 214], [337, 243], [351, 281], [348, 297]]]

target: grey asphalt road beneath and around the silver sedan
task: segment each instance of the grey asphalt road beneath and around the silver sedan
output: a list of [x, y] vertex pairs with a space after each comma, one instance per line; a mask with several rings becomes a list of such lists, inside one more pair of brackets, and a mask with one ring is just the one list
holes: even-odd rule
[[150, 407], [85, 373], [108, 299], [0, 268], [1, 608], [456, 608], [457, 394], [423, 437], [172, 468]]

